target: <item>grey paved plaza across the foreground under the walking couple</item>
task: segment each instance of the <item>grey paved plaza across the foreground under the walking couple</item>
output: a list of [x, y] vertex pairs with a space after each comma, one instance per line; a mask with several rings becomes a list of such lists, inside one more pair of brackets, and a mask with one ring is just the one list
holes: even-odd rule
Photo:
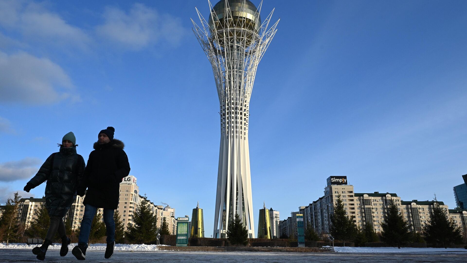
[[[50, 253], [49, 253], [50, 252]], [[48, 251], [44, 262], [102, 262], [102, 263], [149, 263], [149, 262], [467, 262], [467, 250], [463, 252], [436, 252], [436, 253], [394, 253], [394, 254], [364, 254], [364, 253], [298, 253], [298, 252], [128, 252], [116, 251], [112, 258], [105, 259], [104, 251], [86, 252], [86, 260], [78, 261], [69, 253], [65, 257], [59, 256], [59, 251]], [[29, 249], [0, 249], [0, 262], [29, 263], [39, 262]]]

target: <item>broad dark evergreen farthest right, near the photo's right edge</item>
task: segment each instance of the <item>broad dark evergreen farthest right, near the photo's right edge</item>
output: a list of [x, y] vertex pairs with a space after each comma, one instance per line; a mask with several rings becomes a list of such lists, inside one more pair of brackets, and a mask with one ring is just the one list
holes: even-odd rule
[[[438, 201], [435, 196], [435, 201]], [[462, 242], [462, 230], [456, 226], [453, 219], [449, 220], [447, 212], [438, 202], [435, 202], [431, 218], [423, 226], [425, 240], [435, 246], [447, 247], [449, 244]]]

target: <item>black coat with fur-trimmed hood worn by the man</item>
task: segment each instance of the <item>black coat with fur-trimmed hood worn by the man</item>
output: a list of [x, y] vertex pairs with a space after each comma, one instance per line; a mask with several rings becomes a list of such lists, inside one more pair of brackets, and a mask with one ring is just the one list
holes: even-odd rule
[[83, 204], [117, 209], [120, 182], [130, 173], [124, 147], [123, 142], [117, 139], [103, 145], [94, 143], [94, 151], [89, 154], [84, 173], [85, 185], [79, 186], [79, 191], [88, 188]]

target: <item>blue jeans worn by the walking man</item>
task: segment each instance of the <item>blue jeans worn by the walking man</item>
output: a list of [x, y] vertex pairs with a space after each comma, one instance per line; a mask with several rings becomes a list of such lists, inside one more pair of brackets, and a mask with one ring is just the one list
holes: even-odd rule
[[[85, 205], [85, 214], [83, 215], [83, 220], [81, 220], [81, 227], [79, 228], [79, 243], [85, 243], [89, 240], [89, 233], [91, 233], [91, 224], [92, 219], [96, 215], [97, 207], [92, 205]], [[113, 242], [115, 240], [115, 222], [113, 221], [113, 209], [104, 208], [104, 223], [106, 224], [107, 230], [107, 243]]]

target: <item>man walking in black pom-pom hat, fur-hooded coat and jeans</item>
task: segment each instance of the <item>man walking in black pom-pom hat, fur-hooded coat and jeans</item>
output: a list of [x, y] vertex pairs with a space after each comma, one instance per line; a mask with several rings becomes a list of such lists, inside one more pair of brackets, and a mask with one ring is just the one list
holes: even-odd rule
[[[98, 208], [104, 210], [104, 223], [107, 230], [107, 248], [105, 258], [113, 255], [115, 246], [115, 222], [113, 212], [119, 202], [120, 182], [130, 173], [130, 164], [122, 141], [113, 139], [113, 127], [99, 132], [98, 141], [94, 143], [94, 151], [89, 154], [84, 180], [85, 184], [78, 185], [77, 193], [85, 196], [83, 204], [85, 213], [81, 220], [78, 246], [71, 253], [79, 260], [85, 260], [88, 247], [89, 233], [92, 219]], [[87, 187], [87, 192], [85, 193]]]

